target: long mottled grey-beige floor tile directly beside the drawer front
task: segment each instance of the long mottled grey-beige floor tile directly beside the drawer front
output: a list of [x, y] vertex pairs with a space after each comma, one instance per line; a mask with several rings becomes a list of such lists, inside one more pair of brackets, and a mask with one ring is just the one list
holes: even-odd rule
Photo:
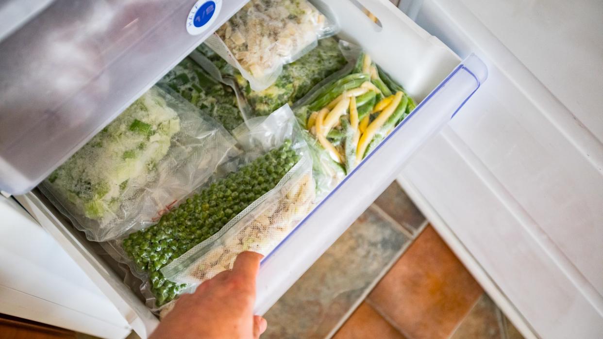
[[262, 338], [324, 338], [372, 288], [410, 238], [369, 207], [268, 310]]

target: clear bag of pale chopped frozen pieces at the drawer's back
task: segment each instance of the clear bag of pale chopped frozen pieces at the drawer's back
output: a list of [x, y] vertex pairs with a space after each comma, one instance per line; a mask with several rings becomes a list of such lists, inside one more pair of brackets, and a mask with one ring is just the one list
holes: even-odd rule
[[251, 0], [206, 43], [260, 91], [276, 81], [283, 64], [335, 32], [332, 20], [307, 0]]

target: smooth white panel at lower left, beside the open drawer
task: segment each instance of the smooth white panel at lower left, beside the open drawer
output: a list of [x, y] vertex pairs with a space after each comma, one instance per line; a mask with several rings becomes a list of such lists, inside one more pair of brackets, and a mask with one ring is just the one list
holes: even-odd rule
[[0, 196], [0, 313], [106, 338], [130, 325], [27, 212]]

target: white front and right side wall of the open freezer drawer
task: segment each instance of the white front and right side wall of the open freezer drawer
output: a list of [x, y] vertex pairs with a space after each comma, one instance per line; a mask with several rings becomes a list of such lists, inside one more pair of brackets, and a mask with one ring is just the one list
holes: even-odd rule
[[[441, 43], [425, 34], [408, 17], [387, 1], [359, 1], [374, 13], [383, 30], [374, 30], [356, 7], [347, 0], [332, 1], [341, 18], [343, 36], [353, 37], [371, 57], [405, 89], [424, 98], [402, 124], [386, 138], [297, 228], [276, 250], [268, 255], [257, 280], [255, 311], [263, 314], [288, 290], [314, 261], [339, 237], [399, 173], [408, 157], [456, 113], [459, 107], [487, 78], [487, 69], [476, 57], [459, 64], [445, 79], [438, 76], [456, 56]], [[390, 11], [390, 7], [392, 10]], [[360, 13], [355, 16], [355, 11]], [[405, 19], [398, 19], [402, 16]], [[365, 17], [365, 16], [364, 16]], [[368, 19], [368, 18], [367, 18]], [[395, 29], [394, 29], [395, 27]], [[403, 37], [409, 37], [404, 39]], [[404, 41], [405, 44], [393, 44]], [[391, 46], [387, 54], [382, 46]], [[396, 48], [397, 46], [397, 48]], [[381, 48], [381, 49], [379, 49]], [[372, 51], [372, 52], [371, 52]], [[414, 55], [408, 51], [423, 51]], [[429, 66], [426, 63], [432, 63]], [[417, 67], [412, 67], [413, 65]], [[433, 70], [434, 72], [428, 72]], [[449, 71], [448, 71], [449, 72]], [[421, 76], [422, 75], [422, 76]], [[429, 95], [423, 95], [434, 82], [443, 82]], [[433, 88], [433, 87], [432, 87]], [[333, 213], [336, 211], [336, 213]]]

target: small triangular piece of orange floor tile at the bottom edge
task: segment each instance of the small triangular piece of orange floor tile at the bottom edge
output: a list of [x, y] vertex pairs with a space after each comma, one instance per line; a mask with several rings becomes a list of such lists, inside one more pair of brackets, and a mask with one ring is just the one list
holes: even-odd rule
[[333, 339], [404, 339], [371, 305], [363, 302], [337, 331]]

